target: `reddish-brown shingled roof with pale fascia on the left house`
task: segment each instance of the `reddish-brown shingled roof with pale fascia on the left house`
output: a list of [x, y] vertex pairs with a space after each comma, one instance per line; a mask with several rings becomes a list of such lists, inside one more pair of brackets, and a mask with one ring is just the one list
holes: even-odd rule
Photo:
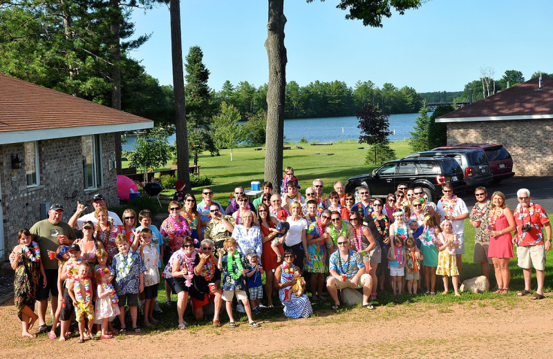
[[0, 144], [151, 127], [150, 119], [0, 73]]

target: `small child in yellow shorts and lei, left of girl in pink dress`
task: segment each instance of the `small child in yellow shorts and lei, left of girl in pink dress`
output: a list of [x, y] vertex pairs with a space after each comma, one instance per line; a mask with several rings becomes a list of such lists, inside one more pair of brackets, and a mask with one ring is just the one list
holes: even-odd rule
[[[91, 338], [94, 324], [94, 307], [92, 306], [92, 281], [88, 278], [90, 266], [88, 262], [81, 262], [77, 266], [77, 275], [73, 275], [67, 284], [67, 290], [73, 307], [75, 307], [75, 320], [79, 323], [79, 340]], [[84, 332], [84, 320], [88, 319], [88, 333]]]

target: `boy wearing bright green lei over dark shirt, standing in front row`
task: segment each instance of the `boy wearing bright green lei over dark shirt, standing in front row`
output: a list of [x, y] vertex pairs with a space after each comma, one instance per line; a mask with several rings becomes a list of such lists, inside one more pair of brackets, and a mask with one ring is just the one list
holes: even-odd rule
[[225, 242], [223, 242], [223, 246], [228, 254], [223, 256], [224, 251], [219, 249], [219, 261], [217, 266], [218, 269], [223, 269], [223, 300], [227, 302], [227, 314], [230, 320], [229, 327], [236, 327], [234, 317], [232, 316], [232, 298], [234, 298], [235, 294], [236, 299], [242, 301], [244, 305], [249, 321], [248, 325], [250, 327], [260, 327], [260, 325], [252, 319], [252, 309], [250, 308], [250, 302], [247, 301], [245, 292], [245, 273], [247, 273], [247, 269], [250, 269], [250, 263], [247, 262], [243, 255], [236, 251], [238, 243], [233, 237], [227, 238]]

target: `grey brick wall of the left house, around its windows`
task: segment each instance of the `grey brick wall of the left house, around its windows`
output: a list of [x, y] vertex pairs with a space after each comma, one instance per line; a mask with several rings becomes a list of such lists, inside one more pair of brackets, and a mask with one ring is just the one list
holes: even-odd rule
[[[11, 168], [10, 155], [19, 155], [25, 162], [24, 144], [0, 146], [4, 253], [15, 246], [19, 229], [30, 228], [41, 220], [41, 202], [61, 203], [65, 208], [64, 221], [73, 215], [77, 200], [90, 202], [94, 193], [102, 193], [108, 205], [117, 203], [115, 168], [109, 170], [109, 159], [115, 157], [113, 133], [100, 135], [100, 139], [102, 185], [94, 191], [84, 191], [81, 137], [37, 142], [40, 185], [36, 188], [27, 188], [25, 164], [21, 164], [21, 169]], [[73, 191], [77, 191], [77, 197], [71, 199]]]

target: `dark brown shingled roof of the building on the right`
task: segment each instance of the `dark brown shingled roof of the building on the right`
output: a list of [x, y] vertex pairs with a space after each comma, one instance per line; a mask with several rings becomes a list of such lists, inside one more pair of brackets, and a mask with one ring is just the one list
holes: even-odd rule
[[442, 115], [436, 122], [553, 118], [553, 77], [538, 77]]

